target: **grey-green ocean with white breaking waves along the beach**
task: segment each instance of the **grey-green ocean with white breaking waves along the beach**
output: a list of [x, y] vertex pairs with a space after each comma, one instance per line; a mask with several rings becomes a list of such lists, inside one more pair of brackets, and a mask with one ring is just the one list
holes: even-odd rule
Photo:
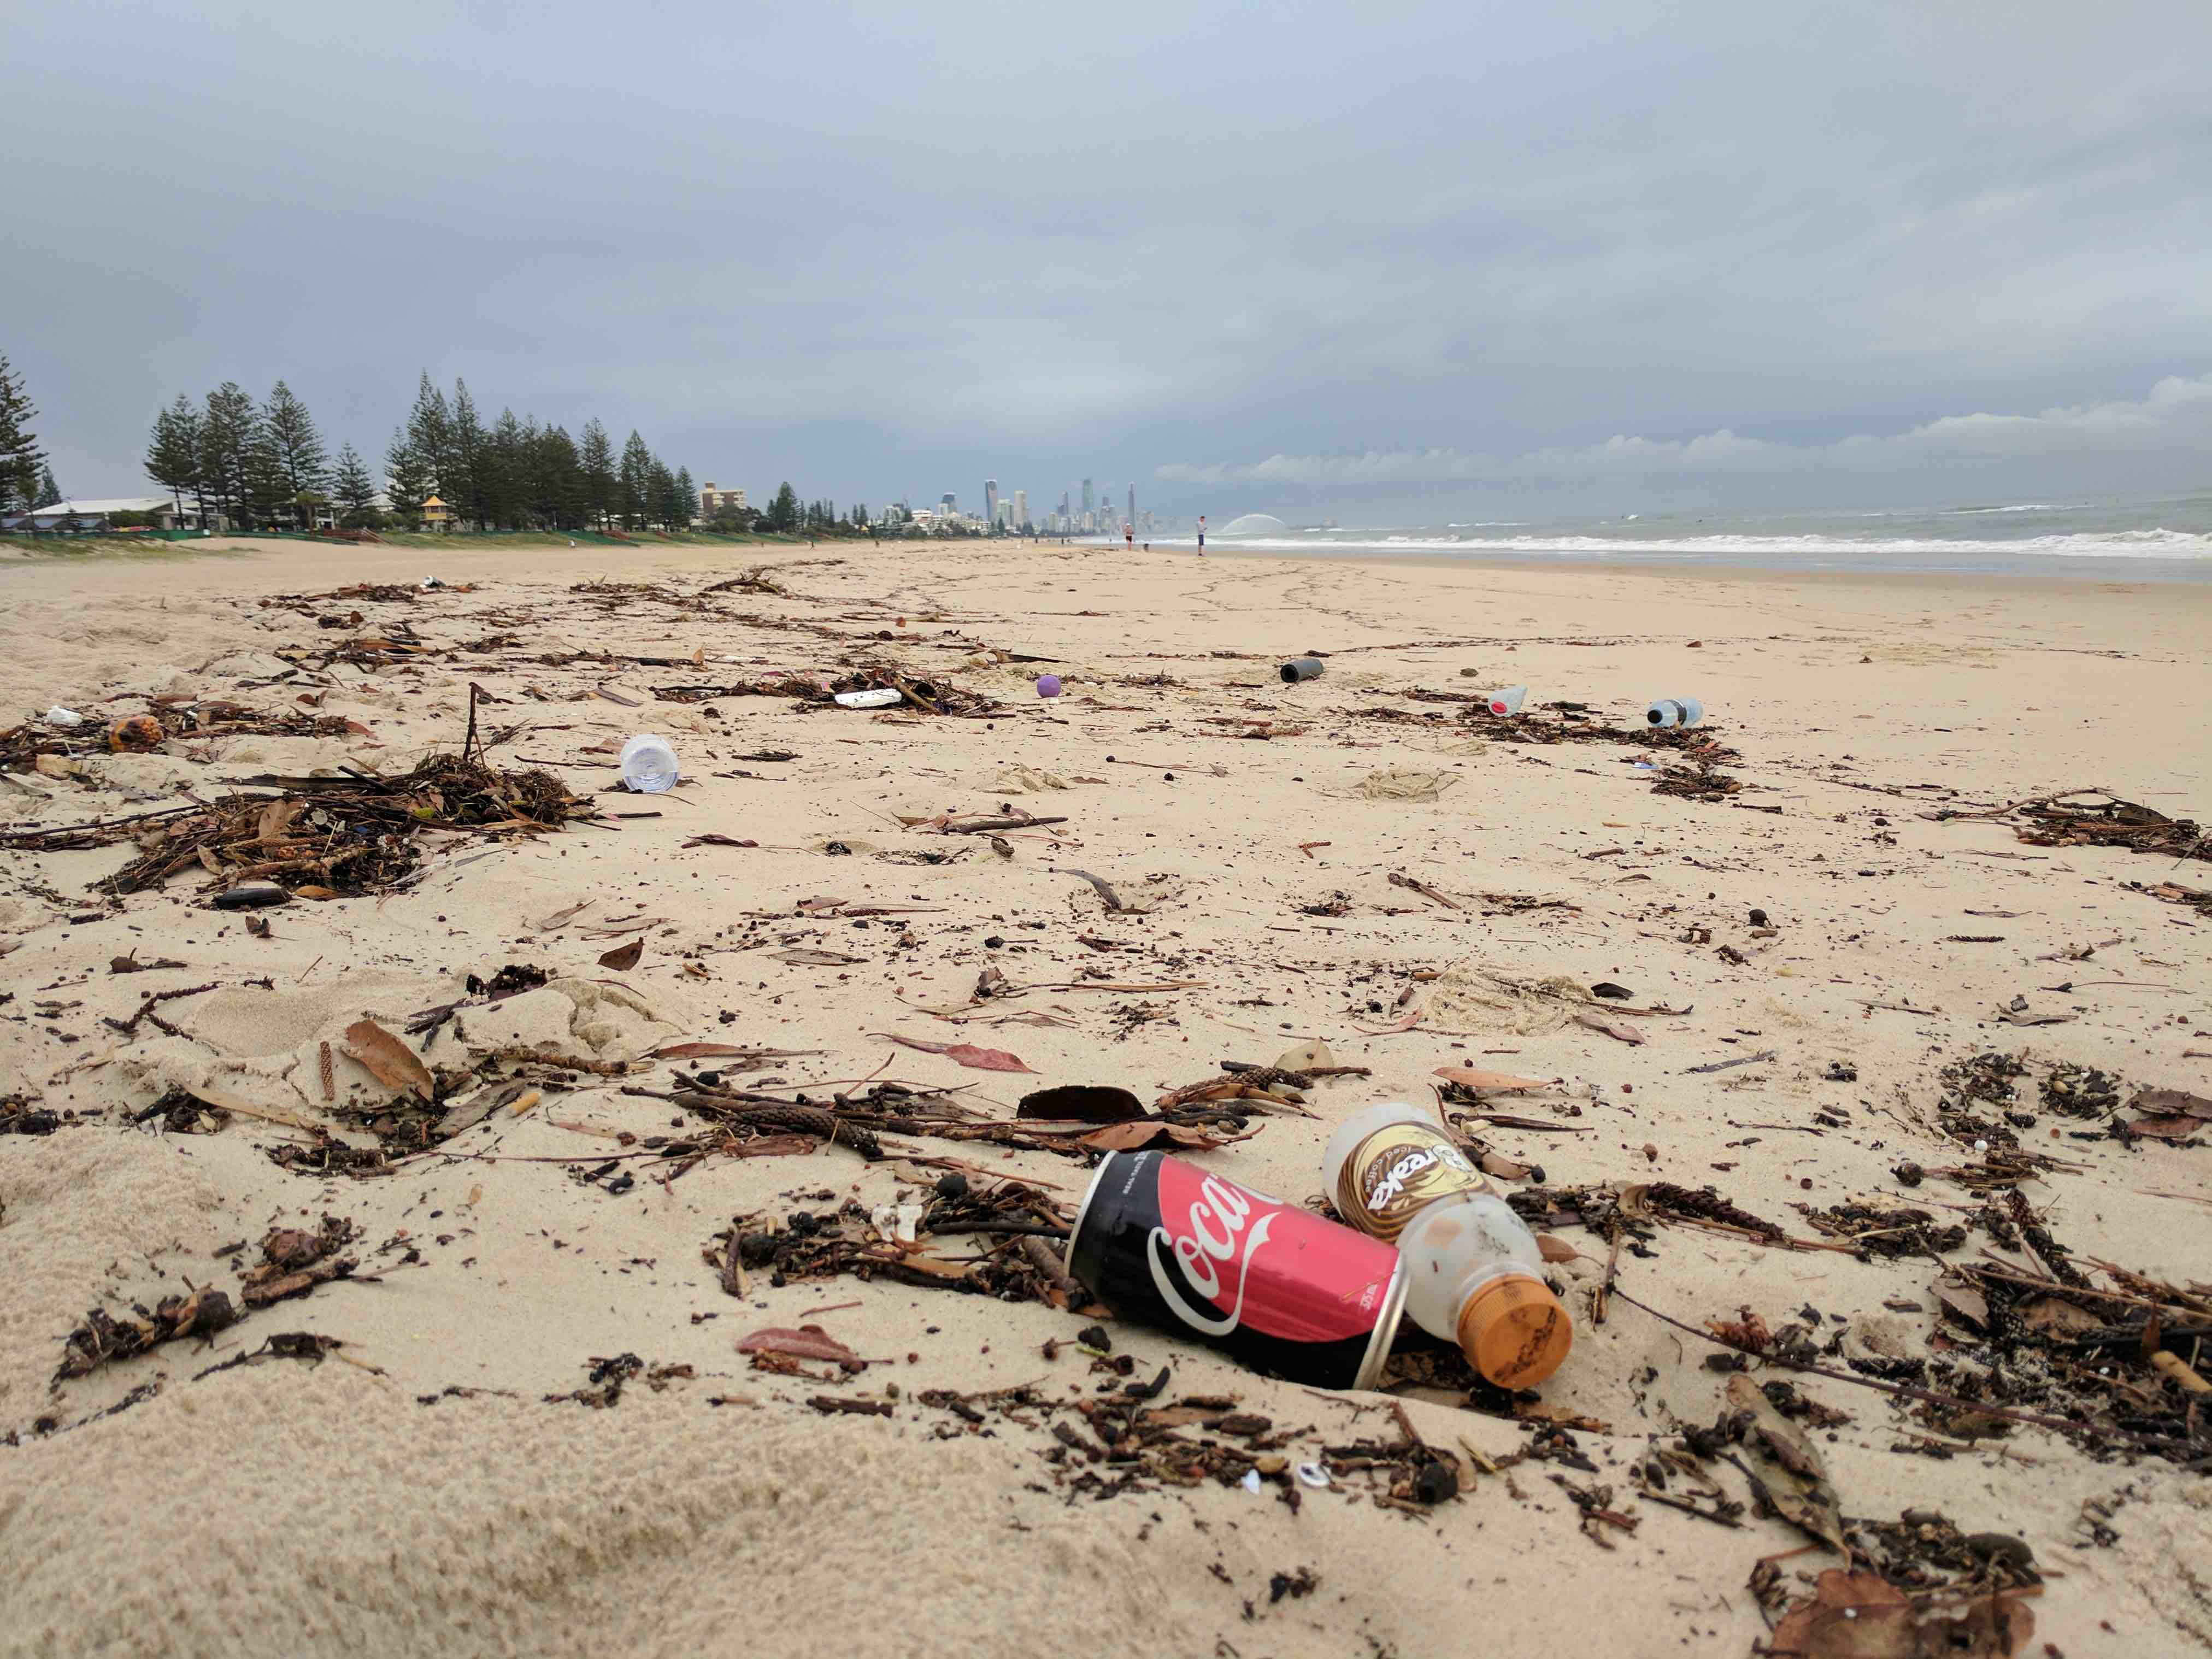
[[[2051, 495], [1891, 511], [1475, 518], [1307, 529], [1265, 515], [1206, 535], [1221, 551], [1475, 557], [1533, 564], [1710, 564], [1765, 571], [1922, 571], [2212, 582], [2212, 493]], [[1155, 535], [1152, 546], [1192, 546]]]

